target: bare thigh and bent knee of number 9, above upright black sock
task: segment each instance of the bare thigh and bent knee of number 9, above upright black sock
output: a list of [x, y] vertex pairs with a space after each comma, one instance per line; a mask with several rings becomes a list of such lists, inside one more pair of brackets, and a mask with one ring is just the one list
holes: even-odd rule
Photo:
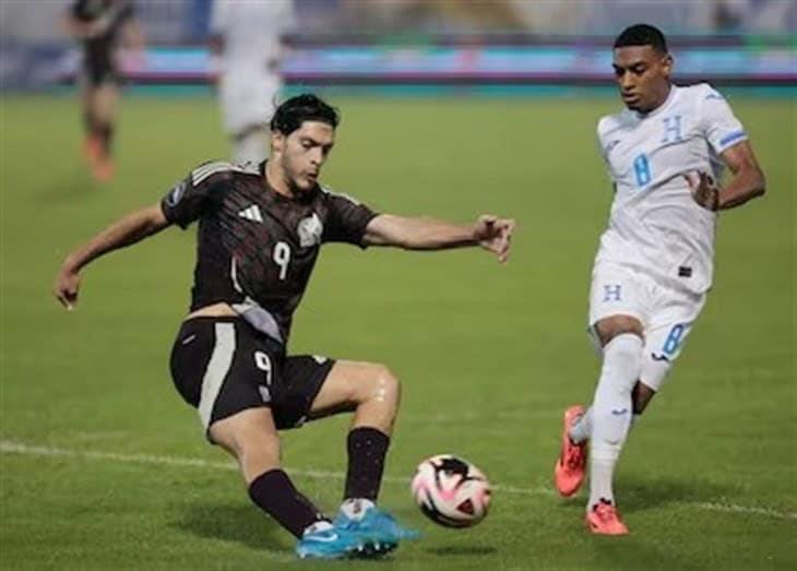
[[384, 365], [338, 360], [313, 400], [310, 414], [312, 418], [319, 418], [354, 411], [372, 400], [397, 406], [400, 398], [398, 379]]

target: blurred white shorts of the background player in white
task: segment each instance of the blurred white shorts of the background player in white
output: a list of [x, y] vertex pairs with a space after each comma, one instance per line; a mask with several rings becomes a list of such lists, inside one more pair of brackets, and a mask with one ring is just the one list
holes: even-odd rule
[[224, 127], [231, 135], [252, 126], [267, 127], [282, 81], [275, 73], [228, 71], [222, 76], [219, 97]]

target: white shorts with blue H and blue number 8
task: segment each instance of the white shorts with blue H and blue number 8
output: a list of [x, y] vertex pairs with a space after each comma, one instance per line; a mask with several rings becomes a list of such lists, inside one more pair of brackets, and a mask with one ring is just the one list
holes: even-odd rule
[[658, 391], [698, 319], [705, 294], [670, 286], [640, 269], [597, 262], [590, 289], [590, 332], [599, 347], [595, 323], [611, 316], [631, 316], [644, 328], [640, 380]]

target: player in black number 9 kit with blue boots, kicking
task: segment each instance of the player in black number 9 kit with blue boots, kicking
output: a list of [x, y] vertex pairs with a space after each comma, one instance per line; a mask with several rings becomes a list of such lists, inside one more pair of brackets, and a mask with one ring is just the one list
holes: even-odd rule
[[[380, 556], [417, 534], [376, 505], [398, 380], [383, 365], [287, 356], [290, 320], [325, 242], [441, 250], [480, 246], [505, 261], [514, 222], [473, 225], [377, 214], [319, 185], [337, 111], [314, 95], [283, 103], [260, 165], [207, 163], [159, 204], [133, 212], [70, 253], [55, 295], [71, 309], [81, 270], [167, 226], [199, 222], [191, 309], [171, 374], [207, 439], [233, 454], [252, 501], [298, 539], [300, 557]], [[279, 467], [277, 431], [354, 412], [344, 502], [323, 515]]]

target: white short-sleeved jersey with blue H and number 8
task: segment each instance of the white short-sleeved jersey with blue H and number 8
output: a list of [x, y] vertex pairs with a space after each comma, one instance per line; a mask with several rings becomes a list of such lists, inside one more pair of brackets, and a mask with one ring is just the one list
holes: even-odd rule
[[706, 83], [674, 85], [647, 115], [602, 118], [597, 135], [615, 200], [596, 263], [632, 265], [689, 292], [707, 290], [716, 214], [694, 202], [685, 175], [718, 180], [719, 154], [747, 139], [725, 98]]

